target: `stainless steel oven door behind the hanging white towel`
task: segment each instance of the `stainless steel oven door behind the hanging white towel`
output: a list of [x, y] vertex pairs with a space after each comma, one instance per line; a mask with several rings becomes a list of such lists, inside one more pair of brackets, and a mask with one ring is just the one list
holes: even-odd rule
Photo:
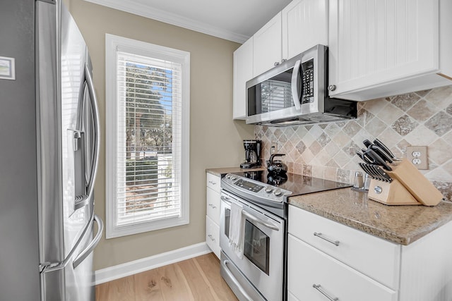
[[[230, 247], [231, 203], [242, 211], [243, 256]], [[220, 211], [220, 247], [228, 259], [266, 300], [283, 299], [284, 220], [222, 190]], [[228, 269], [222, 262], [222, 269]], [[230, 274], [230, 276], [233, 276]], [[244, 280], [234, 279], [242, 286]]]

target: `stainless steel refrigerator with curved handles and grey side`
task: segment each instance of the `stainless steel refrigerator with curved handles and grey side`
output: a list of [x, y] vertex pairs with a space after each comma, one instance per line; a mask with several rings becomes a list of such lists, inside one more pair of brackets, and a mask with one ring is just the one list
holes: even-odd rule
[[0, 66], [0, 300], [94, 300], [99, 113], [59, 0], [1, 1]]

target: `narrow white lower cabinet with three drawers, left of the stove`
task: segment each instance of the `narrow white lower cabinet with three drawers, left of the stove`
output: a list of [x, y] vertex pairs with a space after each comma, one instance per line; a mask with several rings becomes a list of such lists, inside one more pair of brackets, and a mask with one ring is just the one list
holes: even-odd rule
[[220, 258], [220, 180], [206, 173], [206, 243]]

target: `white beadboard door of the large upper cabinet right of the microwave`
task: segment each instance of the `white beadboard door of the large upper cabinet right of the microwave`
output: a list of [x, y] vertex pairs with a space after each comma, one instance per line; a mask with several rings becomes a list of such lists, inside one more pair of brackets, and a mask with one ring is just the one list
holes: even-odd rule
[[439, 70], [438, 0], [331, 1], [329, 20], [331, 96]]

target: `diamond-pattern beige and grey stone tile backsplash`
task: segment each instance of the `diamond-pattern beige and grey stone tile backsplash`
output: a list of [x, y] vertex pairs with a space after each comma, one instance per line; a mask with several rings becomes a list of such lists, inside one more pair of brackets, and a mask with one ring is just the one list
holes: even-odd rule
[[429, 169], [421, 172], [452, 199], [452, 85], [359, 102], [358, 117], [350, 121], [256, 125], [254, 132], [263, 142], [263, 159], [277, 143], [290, 172], [347, 183], [361, 170], [356, 151], [365, 139], [378, 138], [400, 157], [407, 146], [425, 145]]

